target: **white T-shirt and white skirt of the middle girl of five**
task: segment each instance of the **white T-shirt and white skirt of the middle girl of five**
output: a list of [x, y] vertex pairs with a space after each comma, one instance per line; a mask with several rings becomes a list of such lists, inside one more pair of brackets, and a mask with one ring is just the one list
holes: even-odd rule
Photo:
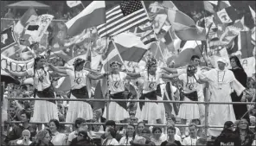
[[[118, 74], [110, 74], [108, 76], [110, 94], [118, 92], [125, 92], [125, 78], [126, 73], [119, 72]], [[103, 117], [106, 118], [106, 107], [103, 113]], [[118, 105], [117, 102], [109, 103], [109, 120], [120, 121], [130, 117], [127, 109]]]

